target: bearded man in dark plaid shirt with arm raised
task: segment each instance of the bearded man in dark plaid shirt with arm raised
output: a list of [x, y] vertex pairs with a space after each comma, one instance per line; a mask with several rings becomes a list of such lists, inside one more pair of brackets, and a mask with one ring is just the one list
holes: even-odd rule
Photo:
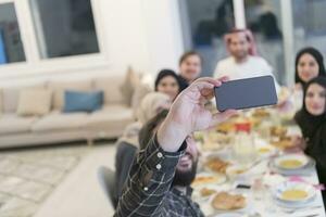
[[115, 217], [203, 216], [189, 196], [198, 162], [191, 133], [213, 127], [236, 113], [212, 114], [204, 107], [204, 102], [214, 94], [213, 88], [222, 81], [225, 78], [197, 79], [176, 98], [163, 123], [153, 127], [158, 130], [147, 130], [151, 133], [141, 140], [145, 142], [141, 146], [146, 148], [134, 161]]

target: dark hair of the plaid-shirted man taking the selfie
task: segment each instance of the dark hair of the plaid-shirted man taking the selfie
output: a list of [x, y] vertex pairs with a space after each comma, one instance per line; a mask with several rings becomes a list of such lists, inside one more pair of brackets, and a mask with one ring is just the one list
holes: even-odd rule
[[143, 150], [155, 133], [156, 127], [165, 119], [168, 110], [162, 110], [156, 116], [146, 123], [139, 131], [139, 148]]

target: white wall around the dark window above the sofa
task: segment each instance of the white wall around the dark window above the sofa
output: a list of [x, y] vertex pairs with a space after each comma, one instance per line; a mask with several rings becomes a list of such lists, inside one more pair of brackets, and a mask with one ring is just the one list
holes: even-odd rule
[[[177, 69], [184, 48], [176, 0], [93, 0], [93, 3], [103, 55], [51, 61], [32, 56], [28, 59], [32, 62], [0, 66], [0, 86], [124, 74], [128, 65], [153, 75], [162, 67]], [[30, 29], [33, 26], [21, 25], [25, 35]], [[33, 43], [30, 35], [22, 36], [23, 42], [36, 55], [33, 54], [36, 42]]]

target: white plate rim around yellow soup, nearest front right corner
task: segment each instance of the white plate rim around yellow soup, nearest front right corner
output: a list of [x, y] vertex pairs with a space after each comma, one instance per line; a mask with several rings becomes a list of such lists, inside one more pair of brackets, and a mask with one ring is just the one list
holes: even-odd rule
[[[304, 191], [306, 193], [306, 196], [303, 199], [284, 199], [283, 193], [289, 190]], [[308, 201], [313, 199], [316, 195], [316, 190], [308, 183], [298, 181], [286, 181], [276, 186], [276, 188], [273, 190], [273, 195], [280, 202], [299, 204], [306, 203]]]

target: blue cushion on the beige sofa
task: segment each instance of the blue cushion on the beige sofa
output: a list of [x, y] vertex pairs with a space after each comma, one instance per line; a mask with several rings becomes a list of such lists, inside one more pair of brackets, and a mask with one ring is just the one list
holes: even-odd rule
[[63, 112], [93, 112], [100, 110], [103, 104], [103, 91], [64, 91]]

